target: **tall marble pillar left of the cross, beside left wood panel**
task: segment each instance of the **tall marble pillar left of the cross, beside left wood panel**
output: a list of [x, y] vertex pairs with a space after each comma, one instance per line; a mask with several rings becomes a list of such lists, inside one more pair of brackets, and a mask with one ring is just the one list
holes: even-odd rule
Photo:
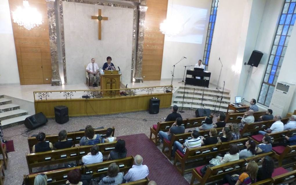
[[57, 49], [57, 32], [56, 32], [56, 19], [54, 13], [54, 1], [46, 0], [47, 18], [49, 26], [49, 41], [50, 41], [50, 54], [52, 60], [52, 86], [61, 86], [61, 77], [59, 75], [59, 61]]

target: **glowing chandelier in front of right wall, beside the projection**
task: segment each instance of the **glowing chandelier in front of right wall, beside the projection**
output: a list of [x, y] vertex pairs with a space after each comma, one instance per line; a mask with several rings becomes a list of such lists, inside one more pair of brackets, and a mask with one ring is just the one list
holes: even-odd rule
[[177, 35], [183, 29], [179, 15], [177, 15], [176, 13], [173, 14], [173, 2], [174, 1], [172, 1], [170, 17], [168, 19], [163, 20], [163, 22], [160, 23], [159, 27], [161, 33], [167, 36]]

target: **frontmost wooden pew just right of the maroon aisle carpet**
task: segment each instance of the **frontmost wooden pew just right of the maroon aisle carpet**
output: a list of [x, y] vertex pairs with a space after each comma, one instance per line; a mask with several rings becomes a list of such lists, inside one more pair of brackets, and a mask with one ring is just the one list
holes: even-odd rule
[[[205, 120], [205, 117], [200, 118], [190, 118], [190, 119], [183, 119], [182, 125], [186, 128], [195, 128], [198, 126], [201, 126], [202, 121]], [[150, 137], [149, 139], [152, 140], [155, 145], [157, 145], [157, 134], [159, 131], [167, 132], [170, 127], [175, 123], [175, 121], [167, 121], [167, 122], [158, 122], [157, 125], [153, 125], [150, 127]], [[152, 134], [154, 135], [154, 138], [152, 138]]]

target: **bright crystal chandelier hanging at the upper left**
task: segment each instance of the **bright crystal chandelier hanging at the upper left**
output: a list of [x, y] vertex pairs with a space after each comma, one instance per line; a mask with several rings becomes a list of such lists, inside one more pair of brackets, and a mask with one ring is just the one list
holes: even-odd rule
[[23, 26], [27, 30], [42, 24], [42, 16], [36, 8], [31, 8], [28, 1], [22, 1], [24, 8], [17, 7], [15, 12], [12, 12], [13, 22]]

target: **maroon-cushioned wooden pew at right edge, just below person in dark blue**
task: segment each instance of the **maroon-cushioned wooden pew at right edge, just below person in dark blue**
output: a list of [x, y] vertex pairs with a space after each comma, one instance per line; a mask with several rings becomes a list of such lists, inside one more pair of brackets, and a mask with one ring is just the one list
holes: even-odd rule
[[289, 163], [285, 164], [284, 166], [291, 166], [295, 164], [295, 157], [296, 157], [296, 145], [292, 146], [277, 146], [272, 147], [272, 151], [274, 152], [273, 157], [278, 160], [278, 166], [283, 166], [283, 160], [289, 159]]

